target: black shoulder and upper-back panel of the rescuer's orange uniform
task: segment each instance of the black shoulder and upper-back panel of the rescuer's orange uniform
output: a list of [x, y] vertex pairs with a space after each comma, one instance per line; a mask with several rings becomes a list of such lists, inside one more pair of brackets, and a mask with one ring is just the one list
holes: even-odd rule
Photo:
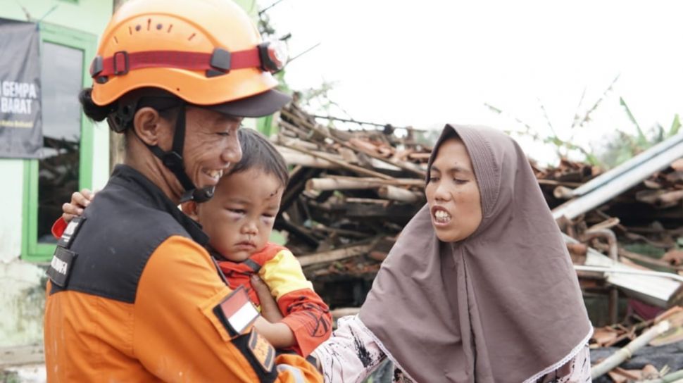
[[[191, 237], [174, 218], [175, 211], [135, 186], [110, 180], [85, 210], [87, 224], [70, 246], [78, 258], [66, 289], [134, 303], [153, 251], [173, 235]], [[63, 290], [54, 285], [50, 294]]]

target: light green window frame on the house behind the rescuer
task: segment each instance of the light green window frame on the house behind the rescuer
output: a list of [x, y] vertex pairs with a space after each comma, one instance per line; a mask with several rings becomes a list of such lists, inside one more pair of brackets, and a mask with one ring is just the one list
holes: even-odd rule
[[[40, 23], [40, 49], [44, 42], [67, 46], [83, 52], [82, 87], [91, 84], [89, 60], [95, 56], [97, 37], [94, 34], [73, 30], [61, 25]], [[42, 56], [40, 56], [42, 61]], [[74, 94], [74, 97], [76, 95]], [[78, 189], [92, 188], [92, 161], [94, 151], [94, 124], [81, 111]], [[47, 262], [54, 253], [55, 244], [38, 242], [38, 159], [24, 160], [23, 227], [21, 258], [31, 262]], [[75, 190], [74, 190], [75, 192]], [[64, 201], [68, 202], [68, 201]], [[55, 217], [57, 219], [58, 217]]]

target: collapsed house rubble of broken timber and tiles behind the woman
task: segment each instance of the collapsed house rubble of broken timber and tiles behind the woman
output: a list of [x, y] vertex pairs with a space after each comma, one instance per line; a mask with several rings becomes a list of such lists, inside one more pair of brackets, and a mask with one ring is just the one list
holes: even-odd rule
[[[277, 125], [275, 144], [292, 170], [275, 229], [333, 315], [355, 313], [401, 229], [426, 202], [431, 147], [413, 128], [323, 126], [296, 103], [282, 110]], [[659, 347], [683, 340], [682, 156], [679, 133], [602, 174], [583, 163], [562, 161], [552, 169], [532, 163], [597, 327], [594, 368], [603, 353], [634, 339]], [[651, 339], [643, 343], [641, 333]], [[637, 352], [628, 350], [627, 356]], [[679, 359], [668, 368], [683, 369]], [[615, 369], [620, 364], [602, 379], [659, 379], [670, 372], [649, 363], [623, 372]]]

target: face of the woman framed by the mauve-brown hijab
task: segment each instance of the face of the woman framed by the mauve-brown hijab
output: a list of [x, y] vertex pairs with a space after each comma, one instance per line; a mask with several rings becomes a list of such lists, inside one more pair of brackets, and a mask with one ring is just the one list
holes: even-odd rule
[[482, 223], [479, 186], [460, 139], [446, 139], [439, 146], [425, 193], [432, 225], [441, 241], [462, 241]]

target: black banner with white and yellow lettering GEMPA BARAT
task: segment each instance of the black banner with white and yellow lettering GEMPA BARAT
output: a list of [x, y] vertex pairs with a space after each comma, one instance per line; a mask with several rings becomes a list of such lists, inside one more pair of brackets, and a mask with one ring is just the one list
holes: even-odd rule
[[35, 23], [0, 18], [0, 158], [39, 158], [40, 38]]

